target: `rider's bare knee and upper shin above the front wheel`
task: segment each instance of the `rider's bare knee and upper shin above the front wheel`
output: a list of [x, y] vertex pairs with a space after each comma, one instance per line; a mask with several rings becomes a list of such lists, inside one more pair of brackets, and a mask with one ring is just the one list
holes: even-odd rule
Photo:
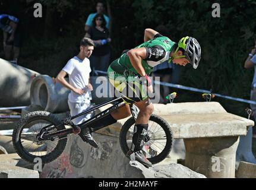
[[135, 106], [140, 109], [135, 124], [148, 124], [148, 120], [153, 113], [154, 106], [149, 99], [135, 103]]

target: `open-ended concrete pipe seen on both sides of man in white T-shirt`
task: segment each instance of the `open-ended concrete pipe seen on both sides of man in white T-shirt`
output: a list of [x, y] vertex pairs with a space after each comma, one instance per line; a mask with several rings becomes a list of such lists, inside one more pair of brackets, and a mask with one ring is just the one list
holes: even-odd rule
[[[109, 81], [107, 77], [90, 77], [93, 91], [92, 103], [100, 104], [111, 99]], [[68, 94], [70, 90], [60, 83], [54, 83], [48, 75], [34, 78], [30, 88], [31, 105], [39, 105], [51, 113], [66, 112], [68, 108]]]

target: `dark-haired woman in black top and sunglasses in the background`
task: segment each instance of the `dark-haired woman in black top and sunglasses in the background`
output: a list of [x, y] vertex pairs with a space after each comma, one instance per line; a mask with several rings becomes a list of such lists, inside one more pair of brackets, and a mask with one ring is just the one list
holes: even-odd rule
[[[95, 43], [93, 54], [90, 56], [91, 68], [94, 70], [107, 71], [110, 58], [109, 30], [106, 28], [106, 20], [103, 14], [96, 14], [93, 18], [93, 26], [86, 33]], [[101, 74], [102, 75], [102, 74]]]

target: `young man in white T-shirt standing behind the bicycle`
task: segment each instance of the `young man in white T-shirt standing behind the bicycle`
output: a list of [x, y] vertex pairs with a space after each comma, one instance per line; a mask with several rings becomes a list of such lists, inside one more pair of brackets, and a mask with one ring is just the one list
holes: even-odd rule
[[[64, 68], [59, 72], [56, 81], [71, 90], [68, 95], [68, 106], [71, 116], [77, 115], [91, 106], [91, 90], [93, 86], [90, 84], [90, 61], [89, 57], [93, 53], [93, 40], [84, 37], [80, 42], [80, 52], [74, 58], [69, 59]], [[69, 83], [65, 80], [68, 74]], [[72, 120], [75, 125], [81, 124], [91, 118], [91, 114], [83, 115]], [[88, 128], [81, 131], [88, 143], [97, 148]]]

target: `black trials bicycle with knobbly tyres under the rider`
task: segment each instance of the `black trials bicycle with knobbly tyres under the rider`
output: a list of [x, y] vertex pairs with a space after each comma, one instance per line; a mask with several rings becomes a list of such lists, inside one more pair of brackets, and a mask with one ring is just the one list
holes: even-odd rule
[[[72, 119], [86, 115], [93, 110], [99, 109], [108, 104], [112, 104], [103, 112], [87, 119], [81, 124], [74, 125]], [[42, 163], [49, 163], [57, 159], [64, 151], [69, 134], [78, 134], [83, 141], [87, 141], [81, 133], [81, 129], [90, 127], [93, 122], [102, 119], [116, 109], [124, 106], [125, 102], [121, 97], [109, 100], [108, 102], [96, 105], [78, 115], [69, 116], [61, 121], [52, 113], [46, 111], [35, 111], [27, 113], [16, 124], [12, 134], [12, 143], [18, 155], [28, 162], [33, 163], [36, 157], [42, 159]], [[135, 105], [129, 105], [132, 117], [122, 126], [119, 134], [119, 143], [124, 154], [128, 155], [131, 147], [132, 135], [134, 133], [134, 124], [137, 119], [138, 110]], [[67, 127], [69, 126], [69, 127]], [[101, 127], [103, 128], [103, 127]], [[90, 128], [95, 132], [100, 128]], [[147, 159], [156, 164], [164, 160], [173, 144], [173, 134], [169, 124], [160, 116], [152, 114], [148, 122], [148, 131], [146, 140], [143, 142], [143, 150]]]

